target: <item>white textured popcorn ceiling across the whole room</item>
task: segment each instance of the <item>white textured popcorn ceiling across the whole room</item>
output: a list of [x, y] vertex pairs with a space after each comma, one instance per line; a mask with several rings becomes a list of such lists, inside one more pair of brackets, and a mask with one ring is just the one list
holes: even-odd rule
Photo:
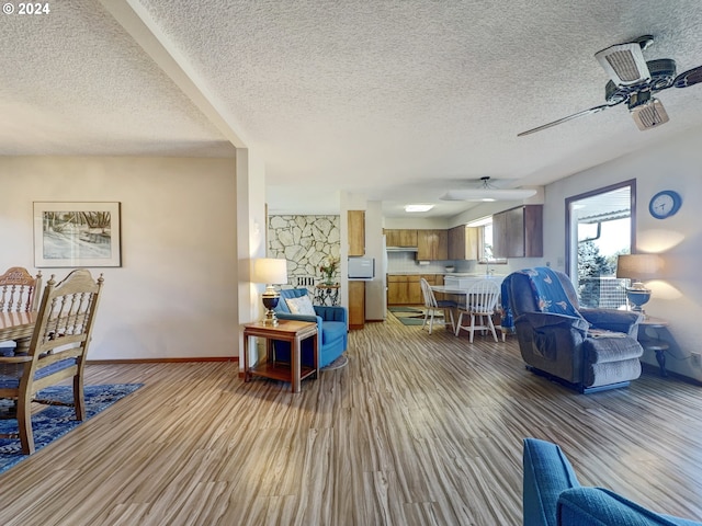
[[[125, 23], [125, 5], [207, 107]], [[50, 9], [2, 15], [0, 155], [231, 156], [238, 137], [265, 160], [273, 211], [332, 211], [347, 191], [393, 215], [484, 175], [545, 184], [702, 126], [697, 85], [660, 92], [670, 116], [660, 128], [639, 132], [621, 105], [517, 137], [602, 104], [608, 78], [593, 55], [612, 44], [650, 33], [647, 59], [675, 58], [679, 72], [701, 65], [699, 0]], [[461, 207], [441, 203], [437, 214]]]

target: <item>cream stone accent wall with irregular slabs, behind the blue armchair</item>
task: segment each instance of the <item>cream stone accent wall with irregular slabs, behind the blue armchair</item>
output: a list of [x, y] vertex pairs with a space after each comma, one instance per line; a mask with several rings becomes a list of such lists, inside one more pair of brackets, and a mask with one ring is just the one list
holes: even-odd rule
[[339, 259], [340, 250], [339, 216], [269, 216], [268, 255], [287, 260], [292, 287], [306, 286], [314, 297], [315, 284], [322, 279], [319, 265]]

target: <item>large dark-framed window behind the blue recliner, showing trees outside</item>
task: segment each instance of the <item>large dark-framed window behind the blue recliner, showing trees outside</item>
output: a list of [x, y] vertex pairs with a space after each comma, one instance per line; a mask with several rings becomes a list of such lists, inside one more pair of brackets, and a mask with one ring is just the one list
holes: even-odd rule
[[631, 253], [634, 239], [634, 180], [566, 199], [568, 274], [584, 307], [619, 309], [626, 305], [616, 256]]

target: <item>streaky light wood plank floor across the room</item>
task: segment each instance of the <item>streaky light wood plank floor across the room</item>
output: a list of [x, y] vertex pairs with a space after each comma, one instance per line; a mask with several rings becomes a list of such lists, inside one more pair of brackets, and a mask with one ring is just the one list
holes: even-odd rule
[[0, 476], [0, 524], [518, 525], [525, 436], [582, 483], [702, 518], [702, 387], [581, 396], [513, 340], [467, 339], [389, 316], [299, 395], [234, 363], [89, 366], [145, 387]]

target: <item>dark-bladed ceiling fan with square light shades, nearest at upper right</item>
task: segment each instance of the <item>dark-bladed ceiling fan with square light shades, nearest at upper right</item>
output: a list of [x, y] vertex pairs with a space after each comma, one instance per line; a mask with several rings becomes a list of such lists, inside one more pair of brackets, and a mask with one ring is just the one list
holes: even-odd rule
[[595, 54], [610, 80], [604, 87], [607, 104], [574, 113], [553, 123], [528, 129], [518, 137], [534, 134], [573, 118], [598, 113], [623, 102], [629, 106], [638, 129], [650, 129], [668, 122], [663, 103], [654, 96], [668, 88], [687, 88], [702, 82], [702, 66], [676, 77], [676, 61], [671, 58], [644, 59], [643, 50], [653, 44], [652, 35], [644, 35], [626, 44], [616, 44]]

